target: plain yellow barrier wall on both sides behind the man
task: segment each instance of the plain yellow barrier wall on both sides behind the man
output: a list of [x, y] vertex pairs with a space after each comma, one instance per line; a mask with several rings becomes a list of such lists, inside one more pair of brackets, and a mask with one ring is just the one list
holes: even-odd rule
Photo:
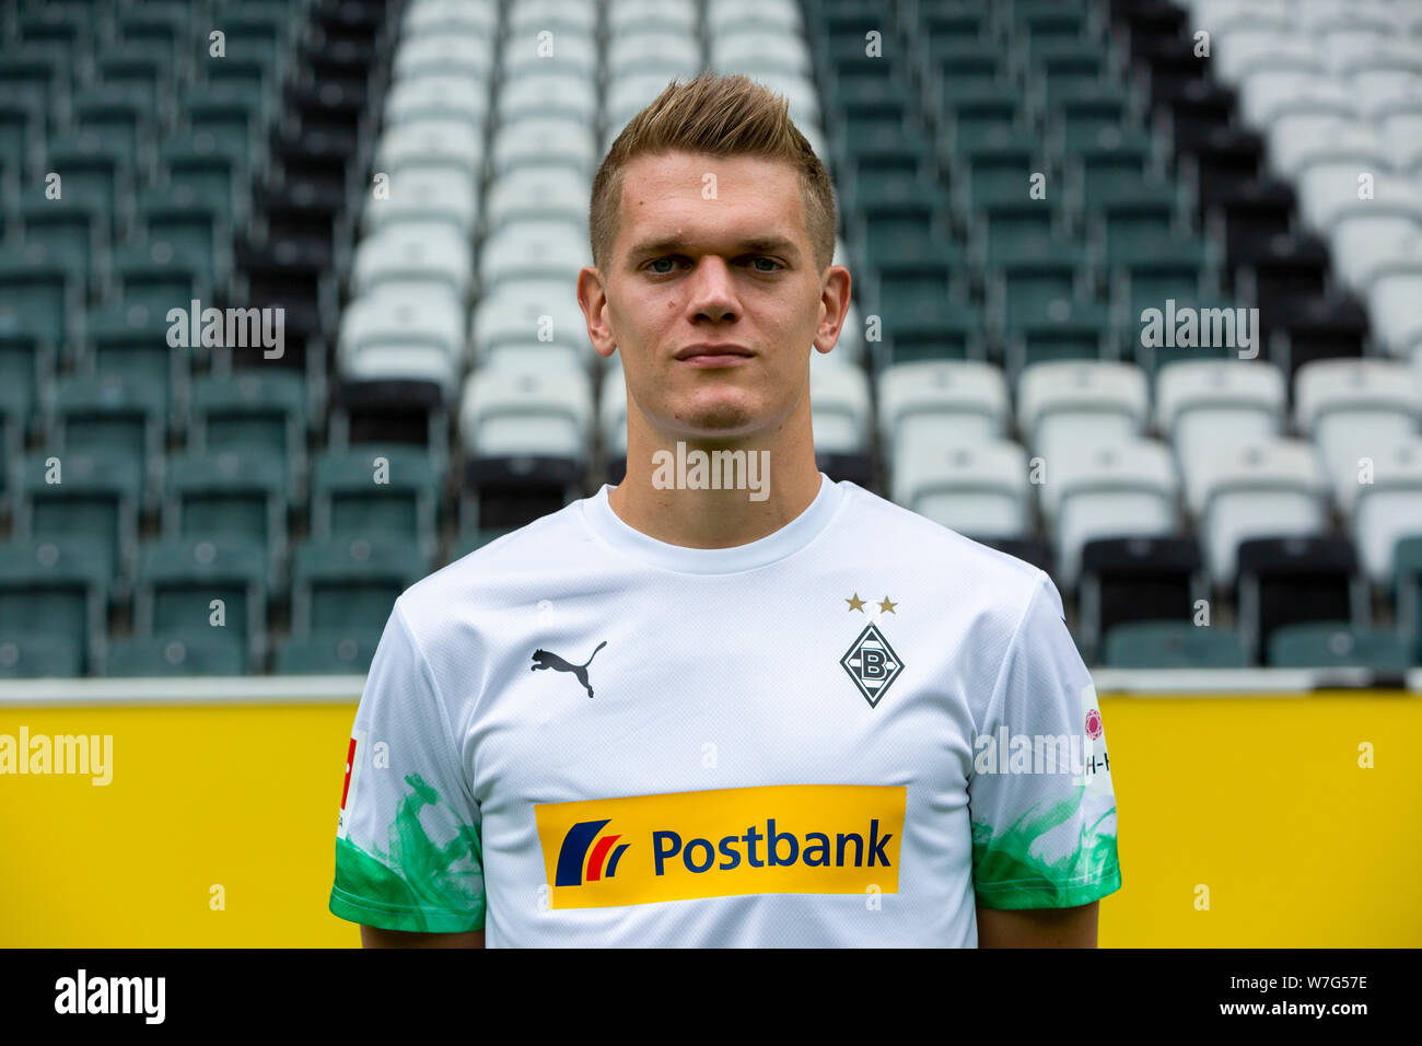
[[[0, 707], [0, 734], [114, 736], [107, 787], [0, 776], [0, 946], [358, 944], [326, 909], [354, 707]], [[1102, 946], [1422, 945], [1422, 699], [1102, 714], [1125, 879]]]

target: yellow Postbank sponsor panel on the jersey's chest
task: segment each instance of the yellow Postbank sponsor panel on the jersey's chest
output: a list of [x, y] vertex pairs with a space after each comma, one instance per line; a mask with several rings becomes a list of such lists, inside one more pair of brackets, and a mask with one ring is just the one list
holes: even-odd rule
[[533, 808], [552, 908], [899, 892], [907, 786], [776, 784]]

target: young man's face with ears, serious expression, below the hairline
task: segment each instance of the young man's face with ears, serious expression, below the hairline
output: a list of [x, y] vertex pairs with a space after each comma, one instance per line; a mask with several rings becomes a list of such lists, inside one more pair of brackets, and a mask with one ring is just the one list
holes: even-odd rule
[[815, 269], [793, 167], [752, 157], [631, 161], [600, 290], [594, 273], [579, 278], [593, 346], [621, 353], [629, 414], [673, 438], [782, 426], [849, 297], [848, 272]]

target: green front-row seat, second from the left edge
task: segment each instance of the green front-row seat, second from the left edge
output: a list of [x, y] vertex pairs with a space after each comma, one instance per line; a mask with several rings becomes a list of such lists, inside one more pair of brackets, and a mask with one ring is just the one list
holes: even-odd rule
[[256, 541], [223, 535], [161, 538], [139, 549], [134, 585], [134, 635], [141, 639], [201, 630], [213, 623], [212, 601], [223, 602], [220, 628], [247, 655], [247, 667], [266, 657], [266, 551]]

